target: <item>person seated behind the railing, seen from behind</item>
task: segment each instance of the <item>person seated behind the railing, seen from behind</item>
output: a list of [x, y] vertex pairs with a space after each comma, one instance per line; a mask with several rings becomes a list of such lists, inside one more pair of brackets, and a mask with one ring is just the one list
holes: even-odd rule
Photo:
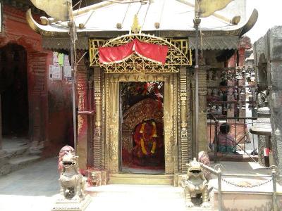
[[234, 137], [229, 134], [230, 125], [228, 123], [221, 124], [219, 131], [217, 151], [221, 153], [236, 153], [236, 142]]

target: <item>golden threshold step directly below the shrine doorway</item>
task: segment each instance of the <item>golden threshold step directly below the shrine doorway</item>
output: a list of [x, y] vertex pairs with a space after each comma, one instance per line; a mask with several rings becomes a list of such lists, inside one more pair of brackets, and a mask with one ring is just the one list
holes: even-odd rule
[[172, 185], [173, 175], [109, 174], [109, 184]]

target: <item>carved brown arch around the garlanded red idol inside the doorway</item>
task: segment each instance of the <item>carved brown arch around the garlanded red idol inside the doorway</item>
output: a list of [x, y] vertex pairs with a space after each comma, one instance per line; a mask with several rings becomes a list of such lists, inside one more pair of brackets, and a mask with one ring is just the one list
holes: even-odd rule
[[122, 148], [123, 151], [131, 153], [133, 150], [133, 131], [137, 124], [143, 120], [154, 119], [157, 123], [164, 125], [164, 108], [160, 105], [159, 101], [152, 98], [146, 98], [134, 106], [131, 106], [123, 114], [123, 138]]

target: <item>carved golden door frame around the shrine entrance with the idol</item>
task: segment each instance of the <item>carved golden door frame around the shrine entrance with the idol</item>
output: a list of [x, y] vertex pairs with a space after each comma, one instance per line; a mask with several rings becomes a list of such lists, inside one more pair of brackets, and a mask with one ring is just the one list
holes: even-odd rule
[[173, 174], [177, 159], [177, 73], [105, 74], [106, 141], [105, 167], [109, 173], [119, 172], [119, 82], [164, 82], [164, 160], [165, 174]]

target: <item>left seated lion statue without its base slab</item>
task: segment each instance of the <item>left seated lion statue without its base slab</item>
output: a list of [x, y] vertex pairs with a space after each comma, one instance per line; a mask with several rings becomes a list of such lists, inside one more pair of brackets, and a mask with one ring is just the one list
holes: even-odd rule
[[86, 177], [78, 173], [78, 156], [73, 153], [63, 155], [63, 169], [60, 176], [61, 195], [64, 198], [80, 200], [85, 197]]

